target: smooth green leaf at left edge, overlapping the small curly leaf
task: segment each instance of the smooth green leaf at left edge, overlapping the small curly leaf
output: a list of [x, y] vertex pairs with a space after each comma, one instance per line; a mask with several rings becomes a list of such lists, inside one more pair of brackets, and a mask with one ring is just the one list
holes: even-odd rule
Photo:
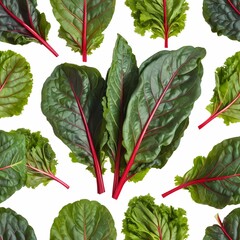
[[0, 131], [0, 202], [5, 201], [22, 188], [25, 180], [24, 136]]

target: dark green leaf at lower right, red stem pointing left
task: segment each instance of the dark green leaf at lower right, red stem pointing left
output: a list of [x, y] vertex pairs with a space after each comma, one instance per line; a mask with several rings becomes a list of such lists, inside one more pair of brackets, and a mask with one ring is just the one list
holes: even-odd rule
[[186, 188], [192, 199], [215, 208], [240, 203], [240, 137], [230, 138], [213, 147], [207, 157], [196, 157], [194, 166], [183, 177], [177, 176], [176, 188]]

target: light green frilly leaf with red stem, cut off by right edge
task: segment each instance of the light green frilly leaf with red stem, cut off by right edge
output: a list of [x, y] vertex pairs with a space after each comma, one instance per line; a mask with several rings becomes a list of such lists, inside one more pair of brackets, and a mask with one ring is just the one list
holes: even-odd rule
[[216, 117], [224, 119], [224, 123], [240, 122], [240, 52], [228, 58], [224, 66], [217, 68], [215, 73], [216, 87], [211, 104], [207, 110], [212, 114], [205, 122], [199, 125], [199, 129]]

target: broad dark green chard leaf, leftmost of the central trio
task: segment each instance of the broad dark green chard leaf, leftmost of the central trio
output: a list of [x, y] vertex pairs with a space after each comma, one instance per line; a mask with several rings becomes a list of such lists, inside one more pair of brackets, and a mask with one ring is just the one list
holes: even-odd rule
[[87, 165], [104, 192], [101, 159], [102, 99], [106, 83], [97, 69], [62, 64], [42, 89], [42, 111], [54, 133], [72, 151], [73, 162]]

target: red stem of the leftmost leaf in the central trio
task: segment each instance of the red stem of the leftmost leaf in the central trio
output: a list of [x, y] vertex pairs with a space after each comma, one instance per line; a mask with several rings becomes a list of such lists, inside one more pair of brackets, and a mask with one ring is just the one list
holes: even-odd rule
[[95, 170], [96, 179], [97, 179], [97, 192], [99, 194], [101, 194], [101, 193], [105, 192], [101, 165], [100, 165], [99, 160], [98, 160], [98, 156], [97, 156], [97, 153], [96, 153], [96, 150], [95, 150], [95, 147], [94, 147], [94, 143], [93, 143], [93, 139], [92, 139], [92, 136], [91, 136], [91, 132], [89, 130], [89, 127], [88, 127], [88, 124], [87, 124], [87, 119], [85, 117], [85, 114], [84, 114], [84, 111], [82, 109], [81, 103], [80, 103], [79, 98], [78, 98], [75, 90], [73, 89], [73, 86], [72, 86], [71, 83], [70, 83], [70, 86], [71, 86], [72, 92], [74, 94], [74, 97], [76, 99], [80, 115], [82, 117], [83, 125], [85, 127], [87, 138], [88, 138], [89, 147], [90, 147], [90, 150], [91, 150], [91, 153], [92, 153], [92, 158], [93, 158], [93, 163], [94, 163], [94, 170]]

